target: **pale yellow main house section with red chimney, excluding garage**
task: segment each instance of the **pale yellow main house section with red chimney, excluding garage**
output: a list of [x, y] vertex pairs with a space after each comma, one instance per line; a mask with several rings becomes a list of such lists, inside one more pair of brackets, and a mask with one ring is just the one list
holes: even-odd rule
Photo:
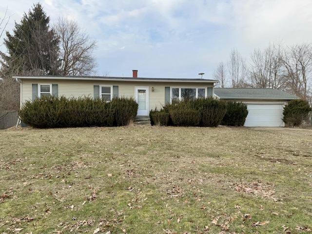
[[110, 100], [113, 97], [135, 98], [137, 116], [148, 116], [172, 99], [211, 97], [217, 80], [181, 78], [19, 76], [20, 106], [26, 100], [44, 95], [66, 98], [91, 97]]

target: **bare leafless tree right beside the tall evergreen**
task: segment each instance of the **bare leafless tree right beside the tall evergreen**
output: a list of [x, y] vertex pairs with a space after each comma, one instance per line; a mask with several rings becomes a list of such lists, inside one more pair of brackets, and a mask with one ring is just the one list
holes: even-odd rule
[[97, 66], [93, 52], [96, 40], [78, 27], [77, 22], [59, 18], [55, 25], [60, 39], [61, 76], [85, 76], [95, 73]]

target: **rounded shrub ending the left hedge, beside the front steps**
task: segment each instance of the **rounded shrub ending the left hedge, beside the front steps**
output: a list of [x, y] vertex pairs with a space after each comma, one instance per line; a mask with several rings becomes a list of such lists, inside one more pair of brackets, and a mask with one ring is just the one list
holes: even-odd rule
[[113, 98], [114, 126], [125, 126], [137, 116], [138, 104], [133, 98]]

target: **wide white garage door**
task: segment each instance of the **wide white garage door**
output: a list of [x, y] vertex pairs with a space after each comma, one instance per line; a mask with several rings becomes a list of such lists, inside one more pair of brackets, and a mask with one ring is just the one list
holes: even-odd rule
[[247, 127], [283, 127], [284, 104], [247, 104]]

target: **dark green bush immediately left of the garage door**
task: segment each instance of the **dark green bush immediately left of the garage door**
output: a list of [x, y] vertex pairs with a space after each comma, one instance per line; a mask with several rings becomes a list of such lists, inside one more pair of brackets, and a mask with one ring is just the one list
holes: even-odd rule
[[244, 126], [248, 115], [247, 104], [236, 101], [228, 101], [228, 109], [221, 124], [227, 126]]

